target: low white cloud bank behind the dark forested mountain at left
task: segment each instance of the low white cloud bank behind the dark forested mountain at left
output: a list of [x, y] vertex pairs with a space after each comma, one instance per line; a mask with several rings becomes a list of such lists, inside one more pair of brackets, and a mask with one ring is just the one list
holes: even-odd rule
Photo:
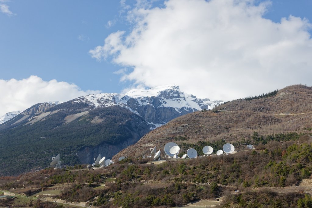
[[44, 81], [37, 76], [22, 80], [0, 80], [0, 116], [14, 110], [25, 110], [33, 104], [65, 102], [92, 93], [100, 91], [83, 91], [75, 84], [57, 80]]

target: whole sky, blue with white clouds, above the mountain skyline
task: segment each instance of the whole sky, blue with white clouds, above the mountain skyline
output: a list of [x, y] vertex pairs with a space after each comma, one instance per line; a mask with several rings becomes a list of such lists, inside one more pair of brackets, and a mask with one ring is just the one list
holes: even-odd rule
[[[228, 2], [0, 0], [0, 114], [133, 87], [178, 84], [201, 98], [229, 100], [312, 85], [311, 0]], [[280, 65], [284, 59], [292, 68]], [[303, 75], [294, 77], [298, 69]], [[201, 75], [207, 79], [197, 80]]]

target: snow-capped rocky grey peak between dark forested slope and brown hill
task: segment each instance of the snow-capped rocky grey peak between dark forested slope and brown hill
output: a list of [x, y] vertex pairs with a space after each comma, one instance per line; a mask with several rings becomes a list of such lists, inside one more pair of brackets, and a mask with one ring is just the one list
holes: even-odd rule
[[182, 92], [178, 85], [155, 87], [151, 89], [132, 89], [125, 94], [100, 93], [74, 99], [73, 102], [97, 107], [119, 105], [139, 114], [150, 128], [156, 128], [168, 121], [202, 109], [213, 109], [221, 100], [198, 99], [192, 94]]

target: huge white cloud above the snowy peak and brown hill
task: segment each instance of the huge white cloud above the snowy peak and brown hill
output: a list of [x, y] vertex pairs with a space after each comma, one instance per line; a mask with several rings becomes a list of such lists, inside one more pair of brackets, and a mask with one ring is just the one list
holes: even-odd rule
[[97, 60], [132, 70], [123, 80], [155, 87], [176, 83], [210, 99], [236, 99], [286, 85], [312, 85], [312, 40], [306, 19], [265, 19], [270, 2], [168, 0], [128, 12], [127, 33], [111, 33], [90, 50]]

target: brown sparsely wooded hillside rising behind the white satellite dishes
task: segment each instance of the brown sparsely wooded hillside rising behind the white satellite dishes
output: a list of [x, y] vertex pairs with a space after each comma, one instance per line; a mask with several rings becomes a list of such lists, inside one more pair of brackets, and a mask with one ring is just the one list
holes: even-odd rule
[[[245, 148], [248, 143], [255, 143], [253, 136], [256, 135], [265, 138], [279, 133], [311, 133], [311, 129], [312, 87], [292, 85], [173, 119], [114, 158], [149, 155], [149, 148], [156, 146], [163, 150], [165, 143], [172, 141], [185, 147], [181, 154], [198, 142], [226, 141], [235, 143], [236, 148]], [[203, 154], [201, 151], [198, 153]]]

